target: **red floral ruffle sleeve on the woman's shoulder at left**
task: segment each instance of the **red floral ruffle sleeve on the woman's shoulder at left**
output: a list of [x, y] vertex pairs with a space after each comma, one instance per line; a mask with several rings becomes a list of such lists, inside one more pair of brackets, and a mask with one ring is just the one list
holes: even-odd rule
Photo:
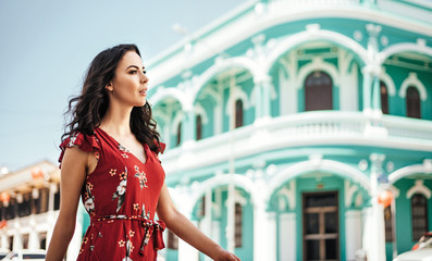
[[83, 151], [95, 152], [95, 156], [97, 158], [99, 157], [100, 147], [97, 138], [94, 135], [90, 136], [82, 133], [72, 134], [67, 138], [65, 138], [59, 147], [62, 150], [59, 157], [59, 167], [61, 167], [64, 151], [66, 150], [66, 148], [78, 147]]

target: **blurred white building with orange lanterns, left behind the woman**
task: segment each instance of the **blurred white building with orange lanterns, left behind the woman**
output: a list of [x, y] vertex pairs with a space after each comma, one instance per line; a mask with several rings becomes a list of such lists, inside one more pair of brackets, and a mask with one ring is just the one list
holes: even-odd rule
[[[47, 250], [60, 209], [60, 170], [42, 161], [0, 176], [0, 248]], [[83, 208], [65, 260], [76, 260]]]

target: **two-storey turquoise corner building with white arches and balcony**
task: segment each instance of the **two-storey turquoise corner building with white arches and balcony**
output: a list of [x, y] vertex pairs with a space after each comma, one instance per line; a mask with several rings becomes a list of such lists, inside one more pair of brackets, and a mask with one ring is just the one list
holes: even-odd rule
[[247, 1], [148, 69], [172, 198], [242, 260], [392, 260], [432, 229], [431, 1]]

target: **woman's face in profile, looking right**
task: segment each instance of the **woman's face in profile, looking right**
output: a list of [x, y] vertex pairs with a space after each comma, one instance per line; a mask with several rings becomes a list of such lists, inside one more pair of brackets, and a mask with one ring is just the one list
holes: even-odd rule
[[141, 58], [134, 51], [127, 51], [115, 70], [114, 78], [107, 85], [110, 104], [145, 105], [147, 83], [148, 77]]

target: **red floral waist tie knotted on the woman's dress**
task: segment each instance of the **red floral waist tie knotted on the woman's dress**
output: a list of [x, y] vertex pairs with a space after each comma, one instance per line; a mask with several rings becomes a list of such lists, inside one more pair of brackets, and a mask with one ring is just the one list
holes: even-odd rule
[[161, 220], [153, 221], [153, 220], [147, 220], [141, 216], [126, 216], [126, 215], [106, 215], [106, 216], [91, 216], [90, 221], [91, 223], [94, 222], [104, 222], [104, 221], [111, 221], [111, 220], [137, 220], [141, 223], [141, 225], [145, 228], [144, 233], [144, 238], [141, 246], [139, 248], [139, 253], [143, 256], [147, 256], [147, 245], [150, 239], [153, 240], [153, 248], [156, 250], [161, 250], [165, 247], [165, 244], [163, 243], [163, 231], [165, 229], [165, 223]]

